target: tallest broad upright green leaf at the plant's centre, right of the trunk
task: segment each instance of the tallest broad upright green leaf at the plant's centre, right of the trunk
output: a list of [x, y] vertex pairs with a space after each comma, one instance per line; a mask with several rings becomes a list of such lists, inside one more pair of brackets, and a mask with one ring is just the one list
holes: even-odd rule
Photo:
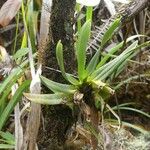
[[88, 40], [90, 37], [90, 32], [91, 32], [91, 21], [88, 20], [82, 26], [82, 28], [79, 32], [78, 41], [76, 43], [78, 76], [79, 76], [80, 81], [83, 81], [84, 78], [86, 77], [86, 70], [85, 70], [86, 48], [87, 48]]

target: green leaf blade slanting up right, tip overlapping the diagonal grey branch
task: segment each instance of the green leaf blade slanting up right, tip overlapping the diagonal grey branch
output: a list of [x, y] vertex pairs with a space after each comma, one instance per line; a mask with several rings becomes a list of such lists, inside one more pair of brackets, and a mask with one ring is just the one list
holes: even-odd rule
[[113, 36], [115, 30], [117, 29], [117, 27], [120, 24], [120, 19], [118, 18], [116, 19], [108, 28], [108, 30], [106, 31], [106, 33], [104, 34], [103, 38], [102, 38], [102, 42], [101, 42], [101, 47], [103, 47]]

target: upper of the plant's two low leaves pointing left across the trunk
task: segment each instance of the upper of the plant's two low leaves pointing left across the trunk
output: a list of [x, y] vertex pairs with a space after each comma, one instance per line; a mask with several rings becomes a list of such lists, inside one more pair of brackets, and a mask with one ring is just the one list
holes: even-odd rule
[[62, 92], [66, 94], [74, 93], [76, 88], [73, 85], [68, 84], [61, 84], [58, 82], [54, 82], [52, 80], [49, 80], [43, 76], [40, 76], [42, 83], [48, 87], [50, 90], [55, 92]]

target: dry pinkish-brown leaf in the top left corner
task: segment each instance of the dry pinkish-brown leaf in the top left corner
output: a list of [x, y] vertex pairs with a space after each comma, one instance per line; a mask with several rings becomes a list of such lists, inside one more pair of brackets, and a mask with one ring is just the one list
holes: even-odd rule
[[0, 25], [7, 26], [20, 9], [22, 0], [7, 0], [0, 10]]

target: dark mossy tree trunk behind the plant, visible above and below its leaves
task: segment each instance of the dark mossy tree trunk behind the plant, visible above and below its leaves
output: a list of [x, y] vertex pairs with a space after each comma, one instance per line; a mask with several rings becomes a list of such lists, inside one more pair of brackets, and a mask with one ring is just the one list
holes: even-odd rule
[[[67, 72], [74, 72], [73, 17], [75, 0], [53, 0], [50, 18], [49, 42], [47, 48], [39, 52], [43, 65], [43, 75], [57, 82], [65, 82], [62, 75], [47, 67], [59, 69], [55, 49], [59, 40], [64, 47], [64, 60]], [[48, 91], [44, 91], [46, 93]], [[67, 106], [43, 107], [45, 131], [39, 135], [40, 149], [63, 149], [66, 133], [73, 124], [72, 111]]]

